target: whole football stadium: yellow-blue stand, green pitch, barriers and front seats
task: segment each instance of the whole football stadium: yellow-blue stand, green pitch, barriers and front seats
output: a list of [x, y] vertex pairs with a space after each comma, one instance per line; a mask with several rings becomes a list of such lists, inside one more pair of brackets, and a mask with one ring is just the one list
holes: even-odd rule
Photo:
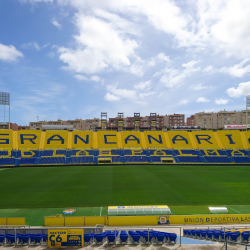
[[[85, 245], [180, 244], [182, 234], [192, 244], [248, 242], [249, 131], [0, 132], [2, 244], [59, 246], [47, 228], [79, 226]], [[180, 234], [119, 229], [192, 224]], [[197, 229], [204, 224], [217, 225]], [[13, 236], [8, 225], [24, 229]], [[44, 229], [32, 238], [25, 225]], [[102, 231], [86, 233], [96, 225]]]

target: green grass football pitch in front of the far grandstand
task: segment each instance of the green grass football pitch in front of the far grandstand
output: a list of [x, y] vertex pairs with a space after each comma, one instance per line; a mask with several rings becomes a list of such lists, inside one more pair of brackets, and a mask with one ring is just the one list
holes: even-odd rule
[[[109, 205], [168, 205], [172, 214], [206, 214], [226, 205], [250, 213], [250, 167], [102, 165], [0, 169], [0, 217], [43, 216], [77, 208], [75, 215], [107, 215]], [[101, 208], [102, 207], [102, 208]]]

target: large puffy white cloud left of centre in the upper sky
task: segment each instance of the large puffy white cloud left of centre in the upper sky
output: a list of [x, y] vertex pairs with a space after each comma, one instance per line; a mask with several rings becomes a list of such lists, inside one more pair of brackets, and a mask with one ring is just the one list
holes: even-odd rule
[[58, 50], [60, 60], [68, 64], [65, 69], [93, 74], [109, 67], [130, 66], [130, 57], [138, 44], [126, 38], [126, 30], [116, 23], [79, 13], [75, 16], [75, 25], [79, 31], [79, 35], [74, 36], [76, 49], [62, 47]]

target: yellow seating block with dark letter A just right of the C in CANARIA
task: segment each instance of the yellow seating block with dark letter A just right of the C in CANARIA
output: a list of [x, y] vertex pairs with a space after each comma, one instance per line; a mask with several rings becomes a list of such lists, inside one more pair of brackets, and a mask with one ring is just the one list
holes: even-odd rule
[[142, 148], [141, 132], [137, 131], [122, 131], [122, 146], [123, 148]]

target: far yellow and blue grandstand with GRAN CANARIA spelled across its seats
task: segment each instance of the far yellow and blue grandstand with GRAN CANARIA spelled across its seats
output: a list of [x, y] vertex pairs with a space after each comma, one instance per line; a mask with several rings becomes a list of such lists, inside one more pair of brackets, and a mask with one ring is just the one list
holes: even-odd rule
[[249, 131], [1, 130], [1, 166], [246, 164]]

